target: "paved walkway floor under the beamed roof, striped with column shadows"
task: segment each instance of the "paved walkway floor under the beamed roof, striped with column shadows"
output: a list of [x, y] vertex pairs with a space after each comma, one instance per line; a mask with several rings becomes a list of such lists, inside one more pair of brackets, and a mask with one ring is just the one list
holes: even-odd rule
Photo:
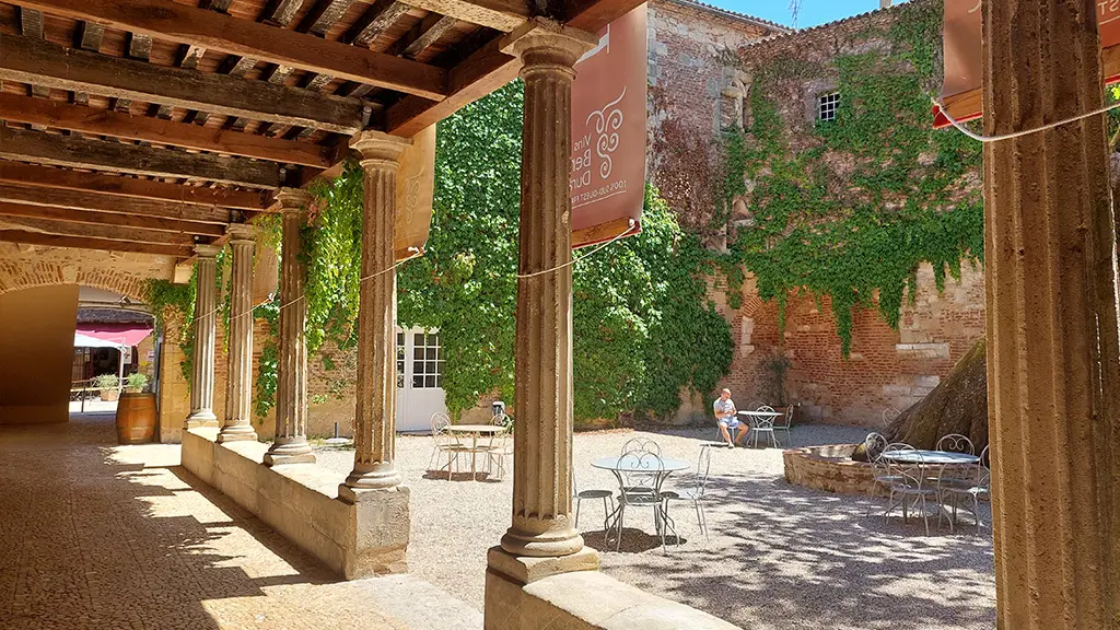
[[413, 576], [338, 582], [112, 416], [0, 427], [0, 629], [480, 629]]

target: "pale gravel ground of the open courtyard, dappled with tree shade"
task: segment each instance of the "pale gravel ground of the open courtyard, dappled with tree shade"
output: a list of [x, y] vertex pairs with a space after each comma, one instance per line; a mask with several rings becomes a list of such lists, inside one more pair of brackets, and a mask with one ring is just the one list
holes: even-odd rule
[[[663, 455], [696, 462], [713, 430], [577, 434], [580, 489], [617, 489], [591, 467], [631, 437], [655, 439]], [[852, 443], [866, 429], [797, 426], [793, 445]], [[402, 436], [398, 465], [412, 491], [410, 568], [467, 603], [483, 605], [486, 549], [510, 524], [512, 479], [448, 481], [427, 471], [430, 437]], [[349, 472], [353, 451], [318, 446], [319, 463]], [[604, 550], [601, 502], [584, 501], [580, 529], [617, 580], [752, 629], [990, 629], [996, 623], [991, 529], [934, 529], [884, 522], [881, 503], [793, 487], [775, 448], [716, 448], [708, 489], [710, 543], [687, 503], [670, 512], [680, 546], [663, 553], [648, 510], [627, 513], [623, 550]], [[666, 488], [673, 485], [670, 478]], [[968, 517], [965, 517], [968, 518]], [[990, 522], [984, 509], [983, 519]], [[931, 527], [934, 521], [931, 521]], [[962, 531], [963, 529], [963, 531]]]

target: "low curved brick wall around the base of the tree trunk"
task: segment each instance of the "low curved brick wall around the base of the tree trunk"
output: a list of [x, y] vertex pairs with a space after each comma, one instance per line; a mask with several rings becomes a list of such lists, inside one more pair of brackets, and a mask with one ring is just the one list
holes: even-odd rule
[[875, 490], [875, 466], [853, 462], [855, 444], [790, 448], [782, 454], [785, 480], [814, 490], [868, 495]]

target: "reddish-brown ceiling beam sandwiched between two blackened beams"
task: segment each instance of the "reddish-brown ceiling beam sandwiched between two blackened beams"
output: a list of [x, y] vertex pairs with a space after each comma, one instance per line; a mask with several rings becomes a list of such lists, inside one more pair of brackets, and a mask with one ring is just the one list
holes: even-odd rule
[[334, 148], [310, 142], [292, 142], [170, 120], [94, 110], [16, 94], [0, 93], [0, 119], [97, 136], [112, 136], [113, 138], [143, 140], [216, 154], [267, 159], [280, 164], [329, 168], [337, 161], [337, 151]]

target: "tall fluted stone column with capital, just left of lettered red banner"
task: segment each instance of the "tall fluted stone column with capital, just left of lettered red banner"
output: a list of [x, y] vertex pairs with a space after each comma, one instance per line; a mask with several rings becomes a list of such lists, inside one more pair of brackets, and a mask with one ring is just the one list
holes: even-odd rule
[[[598, 567], [572, 526], [571, 83], [597, 38], [534, 20], [506, 48], [523, 62], [521, 229], [514, 389], [513, 522], [488, 555], [487, 628], [498, 594], [548, 575]], [[492, 591], [494, 593], [492, 593]], [[501, 627], [501, 626], [494, 626]]]

